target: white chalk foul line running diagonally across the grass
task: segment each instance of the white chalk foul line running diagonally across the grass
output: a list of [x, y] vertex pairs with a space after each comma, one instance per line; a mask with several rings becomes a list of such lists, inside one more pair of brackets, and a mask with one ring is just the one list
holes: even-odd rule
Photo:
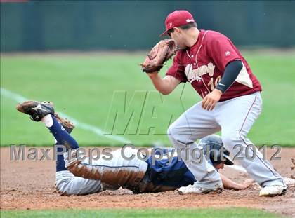
[[[13, 93], [10, 90], [7, 90], [2, 87], [1, 87], [1, 96], [8, 97], [9, 99], [15, 100], [16, 102], [19, 102], [19, 103], [25, 102], [28, 100], [26, 97], [23, 97], [22, 95], [18, 95], [17, 93]], [[107, 138], [110, 138], [110, 139], [117, 141], [117, 142], [123, 142], [125, 144], [131, 143], [129, 140], [124, 139], [124, 137], [120, 137], [117, 135], [107, 135], [100, 128], [97, 128], [96, 126], [93, 126], [93, 125], [89, 125], [87, 123], [81, 123], [80, 121], [77, 121], [75, 118], [72, 118], [72, 117], [68, 116], [67, 114], [63, 114], [62, 112], [58, 112], [58, 114], [60, 114], [60, 116], [67, 117], [70, 121], [72, 121], [77, 126], [77, 128], [81, 128], [83, 130], [88, 130], [90, 132], [93, 132], [96, 135], [107, 137]]]

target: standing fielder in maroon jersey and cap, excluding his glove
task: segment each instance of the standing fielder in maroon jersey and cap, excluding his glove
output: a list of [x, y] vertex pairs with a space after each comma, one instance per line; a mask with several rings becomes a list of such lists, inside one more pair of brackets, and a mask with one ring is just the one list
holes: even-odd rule
[[[223, 189], [221, 178], [207, 161], [196, 163], [195, 141], [221, 130], [225, 147], [237, 158], [249, 175], [263, 187], [260, 196], [276, 196], [287, 186], [273, 166], [247, 139], [247, 133], [261, 114], [261, 84], [249, 64], [219, 32], [199, 30], [188, 11], [174, 11], [165, 21], [168, 35], [180, 50], [172, 66], [162, 78], [158, 71], [147, 74], [163, 95], [171, 93], [179, 83], [189, 82], [202, 101], [185, 111], [168, 129], [174, 147], [183, 149], [181, 158], [197, 182], [178, 189], [179, 193], [206, 193]], [[204, 154], [199, 154], [204, 155]], [[205, 160], [205, 158], [202, 158]]]

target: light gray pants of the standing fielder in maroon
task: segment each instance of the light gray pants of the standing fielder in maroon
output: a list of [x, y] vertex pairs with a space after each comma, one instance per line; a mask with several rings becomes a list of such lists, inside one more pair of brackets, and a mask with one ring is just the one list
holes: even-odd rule
[[[247, 145], [252, 144], [247, 139], [247, 134], [252, 125], [261, 114], [262, 100], [260, 92], [251, 95], [236, 97], [224, 102], [217, 102], [212, 111], [206, 111], [202, 108], [202, 102], [195, 104], [185, 111], [168, 129], [169, 139], [176, 149], [189, 147], [198, 148], [195, 143], [206, 135], [211, 135], [221, 130], [223, 144], [233, 156], [237, 154], [242, 146], [242, 161], [238, 161], [249, 175], [261, 186], [281, 185], [284, 186], [284, 180], [277, 173], [273, 166], [266, 160], [256, 147], [249, 147], [247, 152], [251, 157], [253, 148], [256, 149], [256, 155], [253, 160], [245, 158]], [[199, 147], [199, 149], [202, 149]], [[188, 155], [187, 155], [188, 154]], [[200, 154], [204, 158], [204, 154]], [[188, 169], [195, 176], [200, 186], [214, 186], [221, 184], [221, 178], [218, 172], [214, 170], [207, 161], [194, 163], [192, 152], [181, 151], [181, 158]]]

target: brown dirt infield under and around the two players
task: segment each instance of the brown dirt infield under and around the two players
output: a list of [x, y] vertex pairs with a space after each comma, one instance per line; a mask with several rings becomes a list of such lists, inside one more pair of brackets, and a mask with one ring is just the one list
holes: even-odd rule
[[[268, 156], [273, 151], [268, 150]], [[295, 149], [282, 148], [281, 161], [272, 161], [284, 177], [295, 178], [291, 158]], [[243, 191], [225, 190], [222, 193], [181, 196], [177, 191], [143, 193], [130, 191], [104, 191], [88, 196], [60, 196], [55, 191], [54, 161], [10, 161], [9, 148], [1, 148], [1, 210], [53, 209], [53, 208], [114, 208], [114, 207], [251, 207], [261, 208], [288, 216], [295, 216], [295, 186], [289, 186], [284, 196], [258, 197], [258, 190], [251, 187]], [[244, 172], [225, 168], [224, 175], [242, 182]]]

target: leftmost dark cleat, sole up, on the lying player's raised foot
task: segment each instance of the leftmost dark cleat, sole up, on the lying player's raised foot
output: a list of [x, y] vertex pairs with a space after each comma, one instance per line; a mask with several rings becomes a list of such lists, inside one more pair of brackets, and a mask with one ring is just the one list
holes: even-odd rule
[[33, 121], [41, 121], [41, 118], [44, 118], [47, 114], [54, 115], [52, 102], [27, 101], [18, 104], [16, 109], [24, 114], [29, 114]]

